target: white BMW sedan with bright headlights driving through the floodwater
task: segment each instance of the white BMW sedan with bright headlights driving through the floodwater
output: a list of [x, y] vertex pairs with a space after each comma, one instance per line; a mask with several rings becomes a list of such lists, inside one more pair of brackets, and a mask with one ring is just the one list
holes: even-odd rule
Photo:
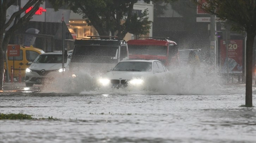
[[101, 87], [112, 88], [138, 87], [146, 82], [145, 77], [166, 71], [166, 67], [158, 60], [123, 60], [99, 79], [99, 84]]

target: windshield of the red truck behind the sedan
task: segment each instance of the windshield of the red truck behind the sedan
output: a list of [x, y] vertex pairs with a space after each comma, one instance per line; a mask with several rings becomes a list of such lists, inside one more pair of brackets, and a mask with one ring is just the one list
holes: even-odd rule
[[167, 55], [167, 46], [157, 45], [129, 45], [129, 54], [131, 55]]

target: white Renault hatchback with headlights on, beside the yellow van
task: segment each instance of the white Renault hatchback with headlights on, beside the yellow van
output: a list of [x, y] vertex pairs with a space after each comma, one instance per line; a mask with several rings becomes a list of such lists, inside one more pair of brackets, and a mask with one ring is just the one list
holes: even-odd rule
[[62, 68], [62, 52], [50, 52], [39, 55], [36, 60], [29, 64], [26, 69], [26, 86], [33, 84], [43, 84], [45, 80], [52, 80], [57, 75], [69, 70], [71, 53], [67, 53], [64, 59], [64, 69]]

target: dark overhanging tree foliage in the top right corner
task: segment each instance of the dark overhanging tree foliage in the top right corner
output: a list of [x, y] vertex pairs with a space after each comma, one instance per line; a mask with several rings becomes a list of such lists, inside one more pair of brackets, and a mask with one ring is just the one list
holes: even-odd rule
[[229, 20], [233, 30], [256, 35], [256, 0], [206, 0], [204, 5], [201, 0], [194, 2], [220, 20]]

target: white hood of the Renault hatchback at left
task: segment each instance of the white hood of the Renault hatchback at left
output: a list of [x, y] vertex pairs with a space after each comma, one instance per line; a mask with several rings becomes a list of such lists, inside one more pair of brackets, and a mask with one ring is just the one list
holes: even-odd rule
[[[67, 67], [67, 63], [64, 64]], [[62, 68], [62, 63], [32, 63], [29, 67], [31, 70], [57, 70]]]

